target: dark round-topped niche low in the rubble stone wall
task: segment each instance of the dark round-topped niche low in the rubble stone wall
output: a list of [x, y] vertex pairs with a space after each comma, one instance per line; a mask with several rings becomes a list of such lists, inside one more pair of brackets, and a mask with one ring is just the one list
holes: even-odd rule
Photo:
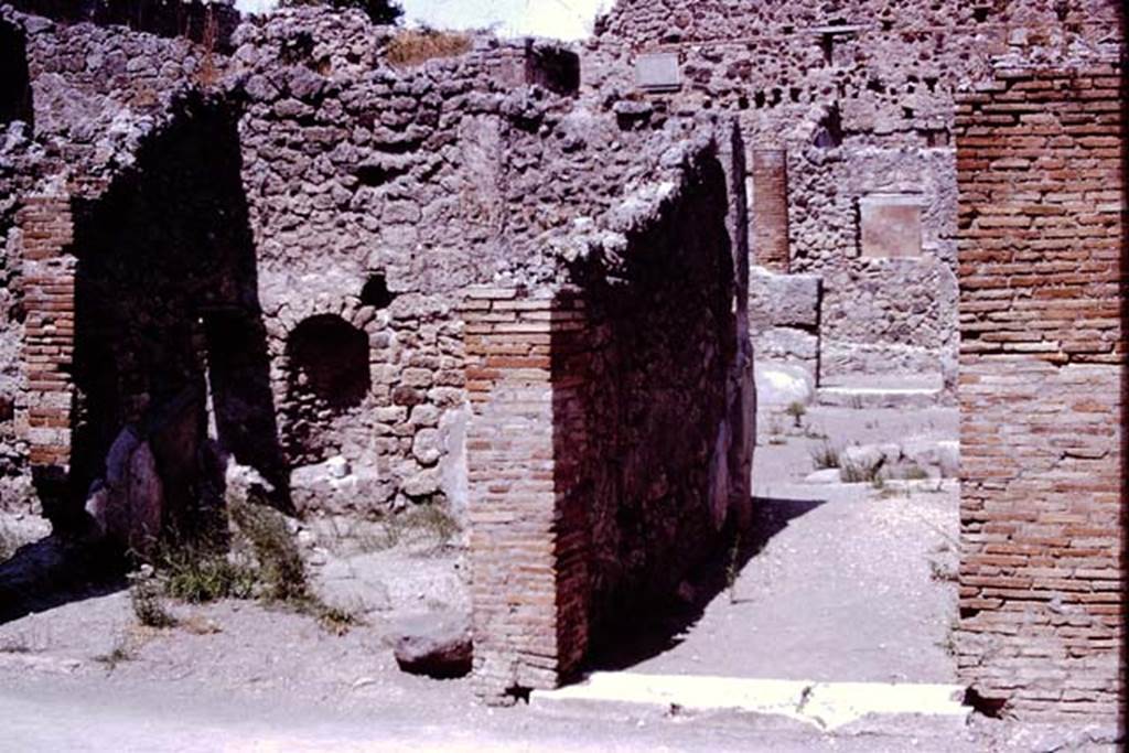
[[294, 463], [325, 459], [334, 420], [358, 408], [373, 384], [368, 334], [336, 314], [298, 323], [286, 342], [285, 443]]

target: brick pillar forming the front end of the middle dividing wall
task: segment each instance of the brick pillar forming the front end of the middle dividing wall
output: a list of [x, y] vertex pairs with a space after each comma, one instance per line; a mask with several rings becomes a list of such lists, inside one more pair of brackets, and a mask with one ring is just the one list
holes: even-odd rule
[[476, 289], [463, 312], [474, 672], [488, 701], [554, 688], [587, 649], [580, 301]]

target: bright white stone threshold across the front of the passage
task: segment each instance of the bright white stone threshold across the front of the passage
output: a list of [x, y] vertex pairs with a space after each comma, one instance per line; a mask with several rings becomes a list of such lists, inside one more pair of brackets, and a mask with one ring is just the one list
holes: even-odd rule
[[969, 724], [960, 685], [814, 682], [597, 672], [559, 690], [534, 691], [530, 707], [554, 716], [638, 723], [730, 718], [761, 729], [843, 735], [955, 734]]

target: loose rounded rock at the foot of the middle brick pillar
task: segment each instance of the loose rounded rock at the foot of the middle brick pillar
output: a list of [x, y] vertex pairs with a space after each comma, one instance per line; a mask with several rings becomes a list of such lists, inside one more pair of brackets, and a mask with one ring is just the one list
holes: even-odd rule
[[392, 632], [396, 664], [404, 672], [438, 680], [462, 677], [471, 671], [471, 621], [452, 611], [401, 620]]

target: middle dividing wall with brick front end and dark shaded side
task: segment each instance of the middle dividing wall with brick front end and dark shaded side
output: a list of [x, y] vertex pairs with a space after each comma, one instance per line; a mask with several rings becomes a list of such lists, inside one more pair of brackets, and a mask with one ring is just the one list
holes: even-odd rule
[[669, 606], [749, 522], [747, 251], [728, 177], [743, 166], [727, 134], [703, 131], [594, 231], [554, 238], [578, 252], [572, 284], [464, 304], [488, 699], [554, 686], [634, 636], [630, 615]]

